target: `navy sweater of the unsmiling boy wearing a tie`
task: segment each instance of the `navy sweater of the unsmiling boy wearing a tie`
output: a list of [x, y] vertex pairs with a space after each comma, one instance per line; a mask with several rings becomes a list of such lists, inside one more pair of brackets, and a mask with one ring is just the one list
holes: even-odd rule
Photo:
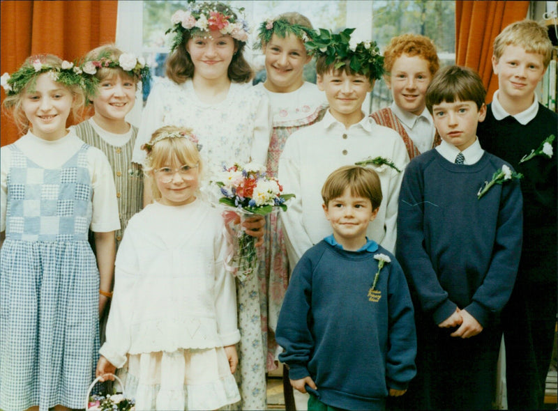
[[421, 311], [436, 324], [459, 307], [486, 327], [511, 295], [522, 241], [520, 183], [494, 185], [477, 199], [503, 164], [486, 152], [476, 164], [453, 164], [433, 149], [405, 169], [397, 256]]

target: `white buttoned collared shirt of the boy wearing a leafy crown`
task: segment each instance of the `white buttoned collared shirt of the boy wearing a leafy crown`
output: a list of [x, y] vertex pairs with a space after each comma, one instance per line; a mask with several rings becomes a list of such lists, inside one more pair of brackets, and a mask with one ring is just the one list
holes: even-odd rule
[[368, 238], [393, 251], [399, 190], [403, 169], [409, 162], [400, 135], [377, 125], [369, 116], [347, 129], [328, 110], [322, 121], [297, 130], [287, 139], [279, 159], [278, 177], [283, 192], [296, 195], [287, 212], [280, 215], [292, 267], [307, 249], [331, 234], [331, 224], [322, 210], [322, 185], [327, 176], [340, 166], [368, 157], [389, 158], [402, 170], [397, 173], [387, 166], [377, 169], [384, 199], [367, 231]]

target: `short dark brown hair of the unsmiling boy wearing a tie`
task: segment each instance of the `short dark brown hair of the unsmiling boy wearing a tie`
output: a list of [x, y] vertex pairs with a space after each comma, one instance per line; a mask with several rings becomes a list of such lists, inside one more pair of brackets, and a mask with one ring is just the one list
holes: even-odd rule
[[426, 89], [426, 107], [441, 102], [473, 101], [478, 109], [483, 107], [486, 89], [478, 73], [471, 68], [449, 65], [436, 73]]

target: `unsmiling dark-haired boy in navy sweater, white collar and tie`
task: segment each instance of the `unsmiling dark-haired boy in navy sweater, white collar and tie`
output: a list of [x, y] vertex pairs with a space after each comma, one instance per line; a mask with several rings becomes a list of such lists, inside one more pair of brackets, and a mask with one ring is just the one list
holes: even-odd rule
[[522, 194], [511, 166], [476, 138], [485, 94], [473, 70], [440, 70], [426, 106], [442, 144], [415, 157], [403, 176], [396, 249], [418, 339], [407, 408], [492, 408], [499, 313], [521, 252]]

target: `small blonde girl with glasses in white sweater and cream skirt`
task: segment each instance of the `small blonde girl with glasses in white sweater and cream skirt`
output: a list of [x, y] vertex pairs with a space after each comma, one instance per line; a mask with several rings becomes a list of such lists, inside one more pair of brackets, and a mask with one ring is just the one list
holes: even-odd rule
[[165, 126], [144, 148], [156, 201], [130, 222], [97, 375], [114, 373], [137, 410], [215, 410], [240, 400], [234, 277], [220, 212], [197, 198], [190, 130]]

